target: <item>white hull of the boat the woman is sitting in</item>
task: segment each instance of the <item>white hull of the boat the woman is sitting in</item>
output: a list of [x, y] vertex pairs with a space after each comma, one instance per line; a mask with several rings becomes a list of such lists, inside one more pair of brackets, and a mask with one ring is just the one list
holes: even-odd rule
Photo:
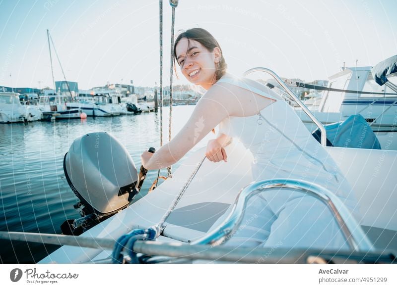
[[[116, 240], [132, 229], [145, 229], [157, 224], [195, 170], [204, 150], [202, 148], [192, 154], [173, 173], [173, 178], [163, 182], [156, 190], [82, 236]], [[363, 217], [356, 220], [363, 227], [374, 227], [394, 235], [397, 230], [397, 186], [393, 171], [397, 171], [397, 151], [339, 147], [327, 147], [327, 150], [341, 167], [357, 196]], [[240, 143], [227, 146], [226, 152], [227, 163], [204, 161], [167, 219], [159, 240], [189, 243], [204, 236], [225, 219], [225, 211], [234, 202], [237, 193], [252, 181], [253, 160], [252, 154]], [[377, 240], [378, 236], [371, 236], [372, 240]], [[385, 242], [389, 246], [380, 248], [397, 251], [397, 245], [391, 247], [396, 244], [395, 241], [386, 239]], [[40, 263], [84, 263], [104, 259], [110, 253], [109, 250], [63, 246]]]

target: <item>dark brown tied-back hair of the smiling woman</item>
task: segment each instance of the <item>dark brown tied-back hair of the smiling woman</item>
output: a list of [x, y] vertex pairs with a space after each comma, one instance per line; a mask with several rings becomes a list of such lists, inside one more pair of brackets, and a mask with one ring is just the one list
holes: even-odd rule
[[202, 46], [207, 48], [208, 51], [212, 52], [215, 47], [219, 48], [220, 50], [220, 60], [218, 62], [218, 67], [216, 68], [215, 72], [215, 80], [218, 81], [225, 73], [226, 73], [226, 68], [227, 64], [225, 61], [225, 58], [223, 57], [222, 49], [219, 46], [218, 41], [205, 29], [202, 28], [192, 28], [189, 30], [186, 30], [185, 32], [182, 32], [178, 35], [177, 39], [175, 40], [174, 44], [174, 68], [176, 72], [176, 60], [177, 60], [177, 55], [176, 55], [176, 47], [181, 41], [181, 39], [187, 38], [189, 40], [194, 40], [199, 42]]

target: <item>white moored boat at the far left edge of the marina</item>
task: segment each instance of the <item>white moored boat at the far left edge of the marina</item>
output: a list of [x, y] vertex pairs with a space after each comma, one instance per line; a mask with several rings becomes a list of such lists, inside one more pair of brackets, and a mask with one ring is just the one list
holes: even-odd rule
[[0, 92], [0, 123], [30, 122], [43, 118], [37, 106], [22, 105], [18, 93]]

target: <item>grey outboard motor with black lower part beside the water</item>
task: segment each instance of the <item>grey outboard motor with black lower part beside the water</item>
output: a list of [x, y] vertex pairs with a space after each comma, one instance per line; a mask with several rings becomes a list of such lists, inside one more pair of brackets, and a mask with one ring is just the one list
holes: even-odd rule
[[80, 219], [66, 220], [61, 225], [66, 235], [80, 235], [128, 207], [139, 192], [139, 179], [144, 178], [138, 176], [123, 144], [106, 132], [89, 133], [74, 140], [64, 157], [64, 172], [79, 199], [74, 208], [79, 208], [81, 215]]

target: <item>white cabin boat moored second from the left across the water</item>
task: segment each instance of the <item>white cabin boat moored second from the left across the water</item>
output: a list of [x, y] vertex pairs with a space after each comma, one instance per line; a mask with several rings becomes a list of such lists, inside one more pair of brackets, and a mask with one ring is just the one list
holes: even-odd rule
[[43, 118], [46, 120], [81, 118], [81, 109], [68, 107], [66, 102], [66, 96], [42, 95], [40, 96], [38, 107], [43, 112]]

